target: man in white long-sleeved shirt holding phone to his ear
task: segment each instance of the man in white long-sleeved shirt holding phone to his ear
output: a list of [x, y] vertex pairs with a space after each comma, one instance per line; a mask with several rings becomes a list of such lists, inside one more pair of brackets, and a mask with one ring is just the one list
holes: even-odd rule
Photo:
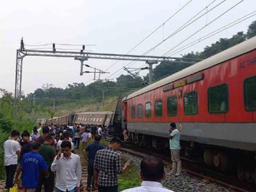
[[51, 170], [56, 172], [56, 192], [80, 192], [80, 157], [71, 152], [69, 141], [62, 141], [61, 147], [62, 150], [58, 152], [51, 165]]

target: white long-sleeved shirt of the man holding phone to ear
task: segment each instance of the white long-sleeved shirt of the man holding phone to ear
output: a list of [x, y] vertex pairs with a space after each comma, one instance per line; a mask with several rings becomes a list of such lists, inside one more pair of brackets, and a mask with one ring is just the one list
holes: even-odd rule
[[82, 168], [79, 155], [71, 153], [68, 160], [60, 156], [59, 160], [54, 159], [51, 170], [56, 172], [56, 187], [61, 191], [70, 191], [80, 186], [82, 179]]

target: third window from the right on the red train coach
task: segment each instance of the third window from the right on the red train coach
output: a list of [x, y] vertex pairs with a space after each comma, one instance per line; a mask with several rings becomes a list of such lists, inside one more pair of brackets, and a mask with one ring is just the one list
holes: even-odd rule
[[184, 94], [184, 113], [185, 115], [195, 115], [198, 112], [196, 91]]

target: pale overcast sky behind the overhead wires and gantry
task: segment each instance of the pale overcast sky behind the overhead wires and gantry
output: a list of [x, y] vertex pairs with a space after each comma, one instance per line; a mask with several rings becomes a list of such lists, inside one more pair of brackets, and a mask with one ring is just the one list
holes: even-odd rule
[[[148, 40], [138, 46], [130, 54], [143, 54], [155, 44], [172, 34], [174, 30], [190, 20], [197, 12], [204, 9], [213, 0], [193, 0], [181, 12], [165, 23]], [[223, 0], [216, 0], [207, 10]], [[228, 10], [241, 0], [227, 0], [202, 16], [189, 27], [166, 40], [155, 48], [149, 55], [163, 55], [185, 38], [201, 29], [206, 23], [214, 20], [222, 12]], [[14, 91], [16, 49], [20, 47], [21, 37], [25, 44], [69, 43], [69, 44], [96, 44], [88, 46], [93, 52], [126, 54], [135, 44], [143, 40], [146, 35], [163, 24], [172, 14], [185, 5], [188, 0], [9, 0], [0, 6], [0, 88]], [[209, 24], [204, 30], [197, 33], [182, 45], [190, 43], [213, 30], [255, 10], [255, 0], [244, 0], [234, 9]], [[204, 13], [202, 12], [202, 13]], [[190, 51], [202, 51], [221, 37], [230, 38], [238, 31], [246, 32], [247, 26], [256, 20], [256, 16], [243, 21], [201, 43], [185, 49], [172, 56], [179, 57]], [[44, 46], [48, 48], [51, 46]], [[25, 48], [35, 48], [25, 46]], [[38, 47], [37, 47], [38, 48]], [[40, 47], [39, 47], [40, 48]], [[56, 48], [79, 48], [70, 46], [56, 46]], [[107, 69], [115, 60], [88, 60], [88, 65]], [[108, 69], [114, 73], [128, 62], [120, 61]], [[143, 62], [136, 62], [131, 67], [141, 67]], [[25, 57], [23, 65], [23, 91], [33, 92], [43, 84], [51, 83], [55, 87], [65, 88], [73, 82], [90, 84], [93, 74], [79, 76], [80, 64], [74, 59], [54, 57]], [[110, 78], [116, 78], [123, 70]], [[144, 75], [141, 73], [141, 75]], [[110, 76], [106, 74], [104, 78]]]

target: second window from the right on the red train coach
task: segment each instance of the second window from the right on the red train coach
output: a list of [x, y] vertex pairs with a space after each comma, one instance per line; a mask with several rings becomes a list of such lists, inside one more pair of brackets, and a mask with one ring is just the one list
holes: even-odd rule
[[226, 113], [229, 110], [229, 90], [227, 84], [208, 88], [208, 111]]

